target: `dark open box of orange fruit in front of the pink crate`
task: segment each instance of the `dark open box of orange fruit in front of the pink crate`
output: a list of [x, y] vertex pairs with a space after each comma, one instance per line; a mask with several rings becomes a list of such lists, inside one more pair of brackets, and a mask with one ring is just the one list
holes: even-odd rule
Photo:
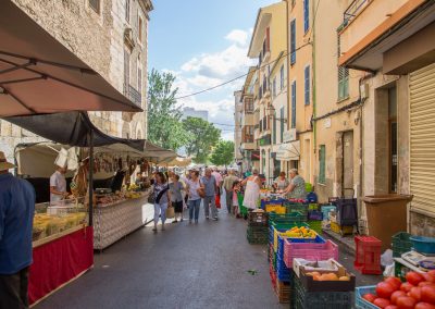
[[300, 282], [308, 292], [353, 292], [356, 286], [355, 275], [347, 272], [338, 262], [337, 265], [337, 271], [316, 271], [319, 274], [331, 276], [331, 280], [322, 279], [322, 281], [315, 280], [311, 275], [313, 272], [307, 271], [304, 267], [301, 267], [299, 272]]

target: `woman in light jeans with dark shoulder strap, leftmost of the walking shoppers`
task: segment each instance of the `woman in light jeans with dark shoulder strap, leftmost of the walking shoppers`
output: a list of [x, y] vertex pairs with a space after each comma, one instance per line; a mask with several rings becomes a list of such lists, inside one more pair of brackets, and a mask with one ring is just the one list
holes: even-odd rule
[[166, 182], [166, 177], [162, 172], [156, 173], [154, 183], [154, 228], [157, 232], [157, 224], [159, 223], [159, 215], [162, 220], [162, 231], [164, 231], [164, 222], [166, 221], [166, 209], [171, 206], [171, 193], [170, 186]]

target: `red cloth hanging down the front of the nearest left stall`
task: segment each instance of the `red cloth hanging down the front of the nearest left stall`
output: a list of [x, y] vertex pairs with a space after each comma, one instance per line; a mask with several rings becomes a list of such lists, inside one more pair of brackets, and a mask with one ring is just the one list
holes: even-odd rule
[[94, 232], [88, 226], [34, 249], [29, 271], [30, 304], [94, 264]]

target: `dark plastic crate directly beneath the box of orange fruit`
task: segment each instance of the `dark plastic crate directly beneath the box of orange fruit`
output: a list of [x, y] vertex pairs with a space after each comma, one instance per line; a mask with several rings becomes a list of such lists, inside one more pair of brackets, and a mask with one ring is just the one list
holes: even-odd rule
[[294, 279], [291, 298], [295, 309], [349, 309], [353, 305], [352, 292], [308, 292], [300, 279]]

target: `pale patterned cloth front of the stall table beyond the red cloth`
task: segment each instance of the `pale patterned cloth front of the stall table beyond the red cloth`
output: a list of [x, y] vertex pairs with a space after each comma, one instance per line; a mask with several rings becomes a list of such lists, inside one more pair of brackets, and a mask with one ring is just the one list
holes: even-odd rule
[[94, 209], [94, 249], [102, 250], [144, 226], [142, 206], [150, 191], [139, 198], [97, 205]]

